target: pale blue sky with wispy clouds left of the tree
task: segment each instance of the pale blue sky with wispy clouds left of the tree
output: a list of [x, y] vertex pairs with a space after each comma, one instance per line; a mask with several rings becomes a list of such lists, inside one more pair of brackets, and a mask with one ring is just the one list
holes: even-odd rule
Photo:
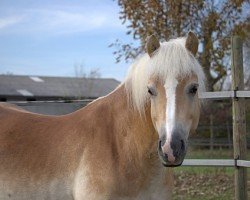
[[133, 42], [114, 0], [0, 0], [0, 74], [76, 76], [98, 69], [123, 80], [116, 39]]

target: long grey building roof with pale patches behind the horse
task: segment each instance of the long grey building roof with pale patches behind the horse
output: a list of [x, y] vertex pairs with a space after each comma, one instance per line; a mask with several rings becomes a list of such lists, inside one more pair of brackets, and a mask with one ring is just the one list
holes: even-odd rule
[[0, 75], [0, 100], [94, 99], [119, 84], [105, 78]]

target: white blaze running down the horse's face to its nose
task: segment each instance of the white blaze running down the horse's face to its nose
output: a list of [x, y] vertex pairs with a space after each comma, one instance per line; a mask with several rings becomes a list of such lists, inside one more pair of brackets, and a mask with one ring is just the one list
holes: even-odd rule
[[178, 81], [173, 79], [167, 79], [165, 82], [165, 91], [166, 91], [166, 142], [162, 147], [162, 150], [165, 154], [168, 155], [168, 160], [174, 162], [175, 157], [173, 155], [173, 150], [171, 149], [170, 142], [172, 140], [172, 133], [175, 125], [175, 108], [176, 108], [176, 87]]

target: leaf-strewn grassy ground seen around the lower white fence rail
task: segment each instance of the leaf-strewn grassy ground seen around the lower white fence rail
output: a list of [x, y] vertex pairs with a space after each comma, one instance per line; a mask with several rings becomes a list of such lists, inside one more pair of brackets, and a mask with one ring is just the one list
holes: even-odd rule
[[[189, 149], [186, 158], [232, 159], [233, 150]], [[250, 152], [248, 150], [248, 160]], [[177, 167], [174, 168], [174, 200], [233, 200], [233, 167]], [[250, 195], [250, 170], [248, 169], [248, 195]], [[250, 196], [249, 196], [250, 197]]]

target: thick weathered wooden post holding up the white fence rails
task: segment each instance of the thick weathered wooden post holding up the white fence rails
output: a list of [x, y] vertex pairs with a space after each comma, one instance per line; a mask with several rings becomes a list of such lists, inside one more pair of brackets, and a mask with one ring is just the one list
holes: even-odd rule
[[[244, 90], [242, 40], [231, 38], [232, 90]], [[246, 116], [244, 98], [233, 100], [233, 146], [234, 158], [246, 159]], [[235, 199], [247, 199], [247, 169], [235, 168]]]

